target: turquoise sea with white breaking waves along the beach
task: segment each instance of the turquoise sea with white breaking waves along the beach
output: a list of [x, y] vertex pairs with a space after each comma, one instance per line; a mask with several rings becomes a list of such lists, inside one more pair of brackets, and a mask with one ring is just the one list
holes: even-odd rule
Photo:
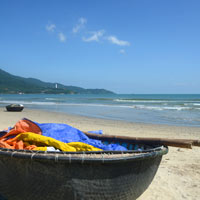
[[11, 103], [104, 119], [200, 126], [200, 94], [0, 95], [1, 107]]

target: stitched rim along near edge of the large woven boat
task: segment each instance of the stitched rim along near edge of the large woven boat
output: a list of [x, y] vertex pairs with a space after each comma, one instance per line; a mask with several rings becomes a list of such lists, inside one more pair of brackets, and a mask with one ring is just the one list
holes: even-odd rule
[[[168, 153], [167, 146], [158, 146], [147, 150], [127, 151], [81, 151], [81, 152], [53, 152], [16, 150], [0, 148], [0, 156], [27, 160], [55, 161], [65, 163], [119, 163], [163, 156]], [[90, 155], [90, 156], [89, 156]], [[93, 155], [93, 156], [91, 156]], [[98, 155], [95, 157], [95, 155]], [[108, 156], [109, 155], [109, 156]], [[119, 156], [113, 156], [119, 155]]]

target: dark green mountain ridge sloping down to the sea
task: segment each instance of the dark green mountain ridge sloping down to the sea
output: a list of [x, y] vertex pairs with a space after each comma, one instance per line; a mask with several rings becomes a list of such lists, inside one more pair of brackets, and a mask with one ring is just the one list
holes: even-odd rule
[[14, 76], [0, 69], [0, 93], [46, 93], [46, 94], [114, 94], [105, 89], [84, 89], [60, 83], [48, 83], [35, 78]]

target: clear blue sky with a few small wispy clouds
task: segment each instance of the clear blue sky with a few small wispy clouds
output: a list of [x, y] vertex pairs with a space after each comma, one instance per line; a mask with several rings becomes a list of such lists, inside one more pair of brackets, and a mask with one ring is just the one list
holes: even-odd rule
[[199, 0], [0, 1], [0, 68], [117, 93], [200, 93]]

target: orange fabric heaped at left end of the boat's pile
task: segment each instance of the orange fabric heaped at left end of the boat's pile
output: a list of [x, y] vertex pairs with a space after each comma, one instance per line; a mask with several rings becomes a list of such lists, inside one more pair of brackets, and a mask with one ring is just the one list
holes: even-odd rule
[[26, 119], [22, 119], [15, 124], [13, 129], [11, 129], [4, 136], [0, 137], [0, 147], [7, 149], [27, 149], [27, 150], [32, 150], [36, 148], [37, 146], [35, 145], [26, 146], [22, 140], [17, 141], [17, 139], [15, 138], [7, 139], [11, 135], [18, 135], [20, 133], [25, 133], [25, 132], [33, 132], [40, 135], [42, 134], [42, 131], [35, 123]]

